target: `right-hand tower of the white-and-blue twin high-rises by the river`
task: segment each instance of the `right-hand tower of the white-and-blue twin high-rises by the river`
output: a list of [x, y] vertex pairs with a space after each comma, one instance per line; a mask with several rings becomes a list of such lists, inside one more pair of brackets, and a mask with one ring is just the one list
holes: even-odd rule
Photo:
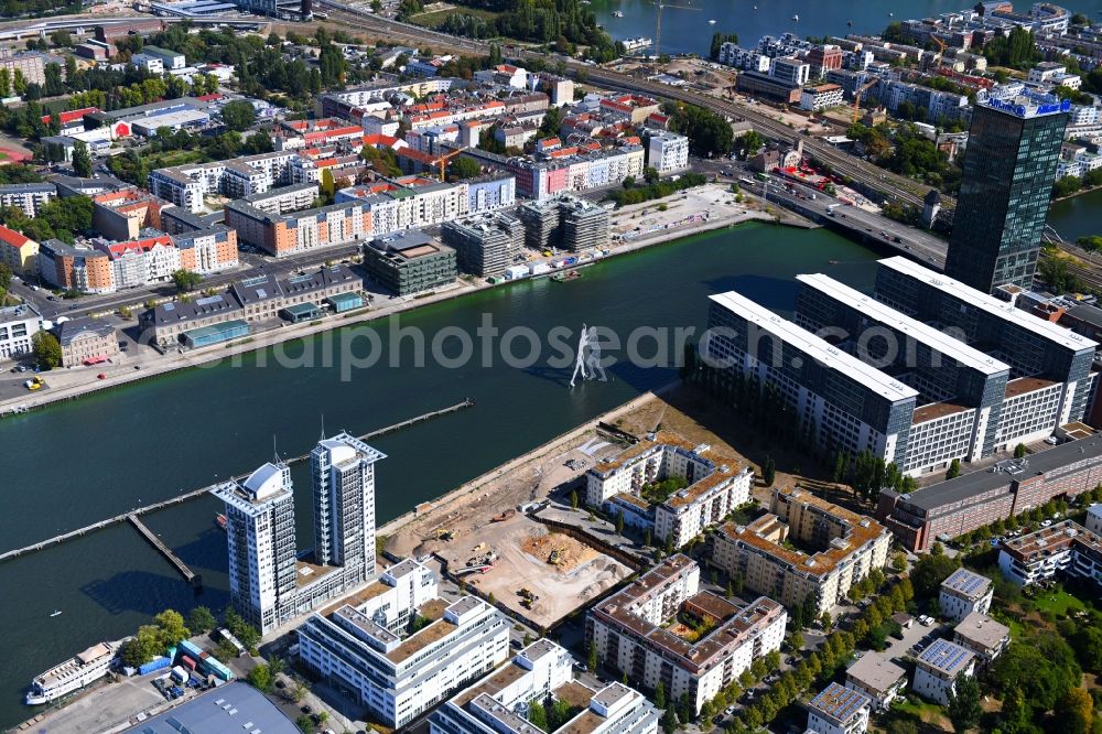
[[310, 452], [314, 562], [339, 565], [350, 583], [375, 578], [375, 464], [386, 455], [341, 432]]

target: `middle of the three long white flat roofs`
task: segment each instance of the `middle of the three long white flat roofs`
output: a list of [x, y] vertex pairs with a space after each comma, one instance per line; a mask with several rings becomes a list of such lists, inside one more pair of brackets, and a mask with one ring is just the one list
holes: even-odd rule
[[900, 313], [876, 299], [865, 295], [861, 291], [850, 288], [845, 283], [840, 283], [829, 276], [812, 273], [797, 276], [796, 280], [809, 288], [823, 293], [839, 303], [860, 311], [865, 317], [879, 322], [897, 332], [901, 332], [920, 344], [929, 346], [934, 352], [955, 359], [960, 364], [984, 375], [997, 375], [998, 373], [1009, 373], [1011, 366], [1000, 361], [994, 357], [980, 352], [975, 347], [969, 346], [960, 339], [949, 336], [944, 332], [929, 326]]

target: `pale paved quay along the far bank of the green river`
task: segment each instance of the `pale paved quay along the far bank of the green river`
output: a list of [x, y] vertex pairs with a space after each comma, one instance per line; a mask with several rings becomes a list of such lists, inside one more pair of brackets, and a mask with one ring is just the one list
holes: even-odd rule
[[[703, 186], [701, 188], [714, 188], [714, 186]], [[617, 218], [638, 216], [640, 211], [657, 211], [659, 204], [661, 204], [661, 202], [647, 202], [645, 204], [625, 207], [624, 209], [617, 212]], [[715, 204], [721, 205], [721, 202], [716, 201]], [[714, 231], [716, 229], [733, 227], [735, 225], [753, 220], [779, 222], [780, 224], [797, 227], [813, 226], [810, 225], [810, 223], [801, 220], [799, 217], [792, 215], [777, 219], [769, 214], [750, 208], [748, 205], [739, 206], [734, 211], [726, 211], [725, 213], [721, 209], [720, 214], [709, 216], [707, 219], [703, 222], [693, 222], [683, 226], [647, 233], [633, 239], [620, 240], [613, 244], [609, 248], [609, 253], [602, 259], [627, 255], [642, 248], [681, 239], [692, 234]], [[583, 266], [592, 265], [593, 262], [594, 260], [591, 260], [583, 263]], [[0, 401], [0, 418], [6, 414], [22, 413], [43, 408], [58, 401], [74, 400], [91, 393], [114, 390], [116, 388], [149, 380], [154, 377], [168, 375], [181, 369], [187, 369], [190, 367], [208, 367], [227, 359], [233, 359], [249, 353], [260, 352], [285, 344], [293, 339], [302, 339], [324, 334], [345, 326], [376, 322], [389, 316], [408, 313], [417, 309], [422, 309], [443, 301], [458, 299], [479, 291], [487, 291], [496, 288], [509, 288], [518, 282], [525, 281], [520, 280], [490, 283], [485, 280], [476, 281], [467, 278], [458, 280], [455, 284], [440, 289], [432, 293], [400, 299], [397, 300], [397, 302], [391, 302], [382, 307], [369, 307], [343, 317], [334, 314], [320, 321], [302, 324], [287, 324], [274, 330], [258, 333], [255, 336], [230, 342], [229, 344], [216, 344], [190, 352], [175, 354], [170, 353], [158, 357], [151, 357], [149, 355], [143, 357], [120, 355], [118, 357], [119, 364], [114, 369], [97, 366], [89, 368], [76, 368], [73, 371], [61, 369], [52, 370], [43, 374], [43, 378], [46, 381], [48, 389]], [[150, 352], [152, 350], [150, 349]], [[97, 377], [97, 375], [100, 374], [105, 375], [102, 379]]]

